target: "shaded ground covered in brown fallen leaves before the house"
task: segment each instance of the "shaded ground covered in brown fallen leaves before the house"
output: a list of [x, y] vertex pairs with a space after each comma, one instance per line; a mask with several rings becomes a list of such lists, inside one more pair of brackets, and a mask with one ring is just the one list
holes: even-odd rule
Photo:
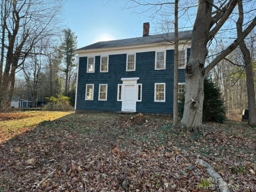
[[170, 116], [67, 114], [2, 140], [0, 191], [218, 191], [198, 189], [215, 184], [201, 158], [232, 191], [253, 192], [255, 149], [255, 128], [243, 122], [188, 134]]

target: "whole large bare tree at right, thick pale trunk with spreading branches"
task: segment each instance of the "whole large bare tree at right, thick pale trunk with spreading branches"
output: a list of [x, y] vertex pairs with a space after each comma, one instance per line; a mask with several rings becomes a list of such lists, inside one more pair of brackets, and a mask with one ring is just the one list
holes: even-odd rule
[[[155, 1], [155, 3], [143, 3], [133, 0], [137, 6], [151, 6], [156, 8], [156, 12], [170, 3], [169, 1]], [[190, 1], [184, 1], [186, 4]], [[195, 2], [195, 1], [191, 1]], [[247, 10], [238, 15], [246, 16], [241, 34], [232, 34], [236, 30], [235, 20], [237, 19], [236, 7], [238, 2], [244, 3]], [[256, 25], [254, 1], [240, 0], [200, 0], [197, 3], [197, 14], [194, 21], [186, 17], [193, 24], [191, 40], [190, 59], [186, 65], [186, 94], [183, 118], [181, 127], [185, 130], [198, 131], [202, 127], [202, 110], [204, 101], [204, 79], [222, 59], [235, 50]], [[134, 6], [135, 7], [135, 6]], [[168, 6], [166, 6], [168, 8]], [[192, 7], [192, 6], [190, 6]], [[149, 8], [147, 10], [150, 10]], [[188, 12], [184, 7], [184, 16]], [[227, 39], [223, 38], [226, 36]], [[225, 48], [212, 56], [208, 55], [211, 46], [218, 47], [218, 43], [225, 41]], [[231, 42], [230, 40], [234, 40]], [[210, 57], [210, 62], [206, 65], [206, 58]]]

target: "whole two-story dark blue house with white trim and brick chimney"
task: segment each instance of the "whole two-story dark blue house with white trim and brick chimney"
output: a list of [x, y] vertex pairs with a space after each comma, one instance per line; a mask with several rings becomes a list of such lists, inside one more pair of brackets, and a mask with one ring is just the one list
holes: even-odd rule
[[[173, 112], [174, 33], [97, 42], [76, 50], [79, 56], [76, 110]], [[192, 31], [179, 32], [179, 98]]]

